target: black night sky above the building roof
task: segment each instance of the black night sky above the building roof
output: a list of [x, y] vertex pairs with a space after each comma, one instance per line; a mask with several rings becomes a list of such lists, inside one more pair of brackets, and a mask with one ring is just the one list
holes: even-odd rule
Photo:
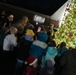
[[52, 15], [67, 0], [6, 0], [6, 3], [33, 10], [45, 15]]

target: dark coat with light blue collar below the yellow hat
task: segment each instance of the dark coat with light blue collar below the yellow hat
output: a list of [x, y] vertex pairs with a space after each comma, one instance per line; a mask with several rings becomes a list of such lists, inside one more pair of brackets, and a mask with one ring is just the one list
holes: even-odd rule
[[17, 58], [25, 61], [29, 57], [29, 49], [32, 44], [31, 36], [24, 36], [18, 43]]

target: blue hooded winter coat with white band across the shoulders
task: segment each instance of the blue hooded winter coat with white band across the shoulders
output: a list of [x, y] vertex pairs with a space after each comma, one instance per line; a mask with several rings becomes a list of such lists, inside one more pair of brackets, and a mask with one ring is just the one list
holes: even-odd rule
[[47, 40], [47, 34], [41, 32], [38, 36], [38, 40], [35, 40], [31, 45], [30, 56], [34, 56], [41, 61], [42, 56], [46, 54], [47, 44], [45, 41]]

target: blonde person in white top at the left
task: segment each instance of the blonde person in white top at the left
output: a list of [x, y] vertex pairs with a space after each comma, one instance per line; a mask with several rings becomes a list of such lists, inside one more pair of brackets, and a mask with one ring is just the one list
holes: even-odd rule
[[6, 35], [3, 42], [3, 52], [2, 52], [2, 65], [4, 66], [3, 71], [7, 75], [11, 75], [14, 67], [14, 49], [17, 46], [17, 28], [11, 27], [10, 34]]

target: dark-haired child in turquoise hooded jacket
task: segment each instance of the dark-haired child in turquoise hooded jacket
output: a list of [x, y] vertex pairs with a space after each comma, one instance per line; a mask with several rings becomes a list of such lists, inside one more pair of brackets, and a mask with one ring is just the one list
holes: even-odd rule
[[54, 40], [52, 40], [52, 41], [50, 41], [50, 43], [48, 45], [47, 52], [42, 60], [41, 67], [44, 67], [46, 61], [50, 58], [54, 59], [56, 55], [57, 55], [56, 42]]

